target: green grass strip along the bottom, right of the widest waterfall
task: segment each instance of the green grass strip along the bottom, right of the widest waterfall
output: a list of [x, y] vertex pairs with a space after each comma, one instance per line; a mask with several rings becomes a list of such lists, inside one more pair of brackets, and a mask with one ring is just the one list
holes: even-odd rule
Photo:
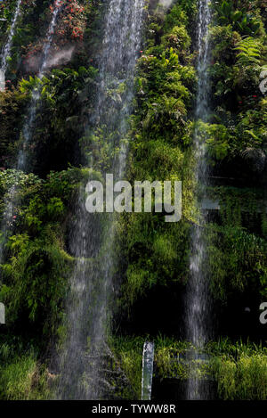
[[[142, 347], [144, 337], [115, 337], [112, 348], [134, 389], [140, 398], [142, 384]], [[155, 370], [160, 378], [187, 379], [189, 367], [177, 362], [178, 356], [186, 353], [192, 346], [186, 341], [158, 336], [155, 343]], [[231, 342], [221, 339], [209, 342], [203, 352], [210, 356], [210, 361], [203, 364], [195, 361], [199, 378], [206, 376], [217, 381], [218, 396], [224, 400], [266, 400], [267, 399], [267, 348], [242, 340]], [[123, 393], [123, 397], [129, 393]]]

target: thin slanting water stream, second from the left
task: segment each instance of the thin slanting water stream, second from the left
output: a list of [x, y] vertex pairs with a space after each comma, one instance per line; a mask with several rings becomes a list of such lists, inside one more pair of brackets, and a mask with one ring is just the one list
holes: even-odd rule
[[[19, 2], [20, 3], [20, 2]], [[17, 12], [19, 4], [17, 5]], [[59, 12], [61, 11], [61, 6], [58, 5], [58, 0], [54, 3], [52, 20], [50, 22], [49, 28], [46, 33], [46, 41], [44, 42], [43, 47], [43, 59], [41, 62], [40, 70], [38, 72], [38, 78], [44, 77], [44, 70], [46, 68], [47, 57], [53, 42], [53, 33], [56, 25], [56, 20]], [[6, 49], [6, 48], [5, 48]], [[7, 55], [8, 56], [8, 53]], [[36, 108], [37, 104], [41, 97], [41, 86], [39, 85], [33, 92], [32, 98], [29, 104], [28, 116], [22, 128], [22, 138], [23, 143], [20, 147], [20, 152], [17, 161], [17, 171], [15, 175], [14, 182], [9, 189], [8, 193], [4, 198], [4, 215], [1, 225], [1, 242], [0, 242], [0, 263], [3, 260], [4, 252], [4, 243], [7, 241], [8, 235], [12, 234], [13, 224], [14, 224], [14, 207], [16, 202], [16, 194], [18, 191], [18, 186], [20, 184], [20, 175], [21, 171], [26, 171], [28, 168], [28, 159], [27, 159], [27, 148], [34, 131], [34, 123], [36, 119]], [[16, 202], [18, 204], [18, 202]]]

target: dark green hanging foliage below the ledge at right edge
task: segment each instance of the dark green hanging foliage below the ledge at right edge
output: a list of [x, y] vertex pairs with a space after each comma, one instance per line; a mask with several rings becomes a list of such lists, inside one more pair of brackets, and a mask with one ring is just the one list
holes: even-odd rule
[[216, 226], [209, 235], [209, 276], [216, 299], [250, 291], [266, 298], [266, 242], [238, 226]]

